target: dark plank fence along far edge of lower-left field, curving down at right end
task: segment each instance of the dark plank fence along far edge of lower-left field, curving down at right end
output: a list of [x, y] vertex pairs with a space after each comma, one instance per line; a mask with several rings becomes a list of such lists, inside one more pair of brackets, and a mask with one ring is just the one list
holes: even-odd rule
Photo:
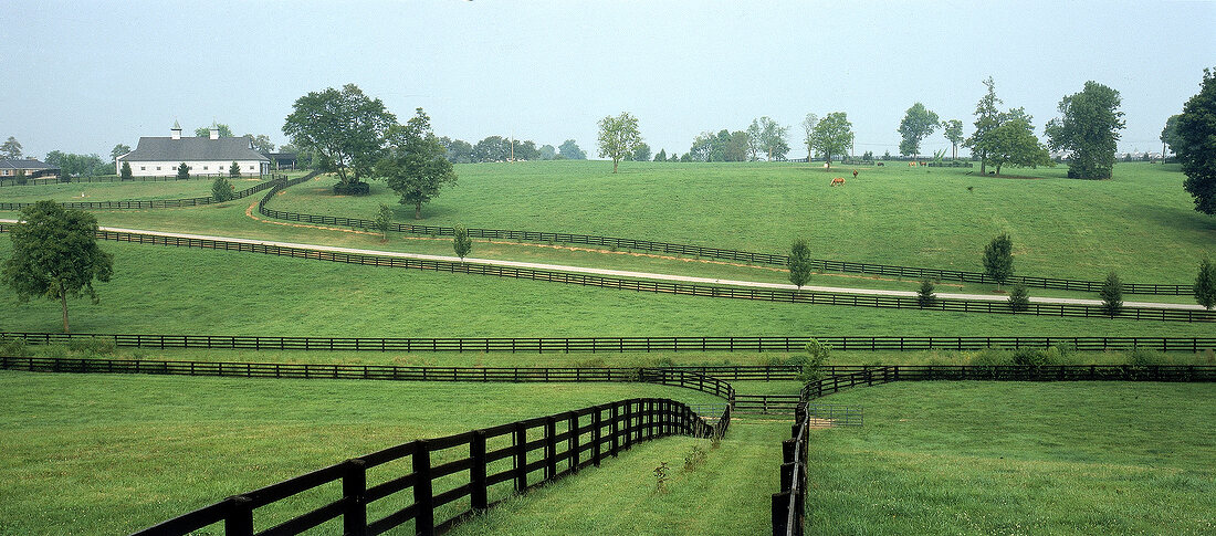
[[395, 365], [254, 363], [73, 357], [4, 357], [0, 369], [61, 373], [167, 374], [226, 378], [379, 379], [396, 382], [642, 382], [734, 400], [722, 378], [681, 368], [629, 367], [406, 367]]

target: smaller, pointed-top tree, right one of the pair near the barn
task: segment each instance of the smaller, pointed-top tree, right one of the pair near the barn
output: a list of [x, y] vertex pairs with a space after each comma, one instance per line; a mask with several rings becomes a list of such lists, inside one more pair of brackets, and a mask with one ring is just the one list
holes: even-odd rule
[[413, 219], [422, 219], [422, 205], [444, 186], [456, 184], [456, 171], [447, 149], [430, 130], [430, 118], [417, 108], [405, 125], [388, 131], [388, 156], [376, 163], [376, 175], [401, 196], [401, 204], [413, 205]]

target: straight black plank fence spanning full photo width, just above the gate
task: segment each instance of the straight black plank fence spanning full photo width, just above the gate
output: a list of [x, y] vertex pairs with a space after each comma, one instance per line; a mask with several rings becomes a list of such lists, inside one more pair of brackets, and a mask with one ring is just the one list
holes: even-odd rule
[[[454, 352], [658, 352], [777, 351], [800, 352], [811, 340], [838, 351], [1020, 350], [1068, 348], [1077, 351], [1216, 350], [1216, 337], [269, 337], [123, 333], [0, 332], [0, 339], [26, 344], [101, 342], [118, 348], [305, 350], [305, 351], [454, 351]], [[665, 367], [670, 368], [670, 367]], [[796, 367], [687, 367], [731, 379], [775, 378], [777, 369]], [[843, 367], [834, 367], [843, 368]], [[708, 373], [708, 372], [705, 372]], [[726, 378], [727, 376], [719, 376]]]

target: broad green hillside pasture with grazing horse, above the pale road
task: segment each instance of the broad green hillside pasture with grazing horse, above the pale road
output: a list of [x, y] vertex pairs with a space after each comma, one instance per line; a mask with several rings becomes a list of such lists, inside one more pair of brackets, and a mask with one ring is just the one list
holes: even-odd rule
[[[852, 179], [851, 170], [860, 175]], [[427, 225], [520, 228], [784, 253], [807, 238], [816, 258], [983, 271], [984, 246], [1013, 238], [1019, 273], [1189, 283], [1216, 256], [1216, 218], [1193, 210], [1177, 165], [1116, 164], [1108, 181], [1066, 167], [972, 169], [790, 163], [606, 162], [462, 164], [457, 186], [423, 208]], [[829, 187], [846, 176], [844, 187]], [[381, 181], [372, 196], [334, 197], [332, 177], [288, 190], [274, 208], [401, 221], [412, 207]]]

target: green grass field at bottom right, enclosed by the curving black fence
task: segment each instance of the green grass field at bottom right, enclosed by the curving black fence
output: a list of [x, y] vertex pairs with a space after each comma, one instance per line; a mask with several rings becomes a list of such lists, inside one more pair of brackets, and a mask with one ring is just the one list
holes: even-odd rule
[[822, 400], [809, 534], [1216, 532], [1216, 385], [896, 383]]

